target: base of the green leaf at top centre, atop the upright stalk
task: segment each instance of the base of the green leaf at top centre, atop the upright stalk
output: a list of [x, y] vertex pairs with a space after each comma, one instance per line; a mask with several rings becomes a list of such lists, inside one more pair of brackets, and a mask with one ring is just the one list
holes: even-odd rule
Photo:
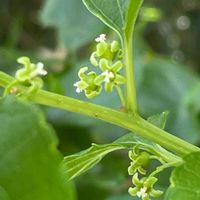
[[119, 35], [132, 32], [142, 0], [83, 0], [88, 10]]

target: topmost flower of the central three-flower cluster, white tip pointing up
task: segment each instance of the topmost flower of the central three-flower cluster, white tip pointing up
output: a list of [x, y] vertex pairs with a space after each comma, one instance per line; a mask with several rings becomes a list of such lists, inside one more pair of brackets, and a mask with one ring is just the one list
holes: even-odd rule
[[96, 38], [96, 51], [90, 56], [90, 62], [94, 66], [99, 65], [99, 61], [104, 58], [108, 61], [115, 61], [122, 59], [122, 50], [119, 48], [119, 43], [113, 41], [112, 43], [106, 42], [106, 35], [101, 34]]

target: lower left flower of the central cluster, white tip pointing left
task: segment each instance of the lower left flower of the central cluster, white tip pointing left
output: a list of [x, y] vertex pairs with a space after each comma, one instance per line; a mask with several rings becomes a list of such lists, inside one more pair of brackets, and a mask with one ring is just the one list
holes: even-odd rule
[[97, 74], [93, 71], [85, 74], [87, 70], [88, 67], [83, 67], [79, 70], [78, 76], [81, 80], [74, 83], [74, 86], [77, 87], [77, 93], [84, 91], [86, 97], [94, 98], [101, 93], [102, 86], [95, 82], [98, 77]]

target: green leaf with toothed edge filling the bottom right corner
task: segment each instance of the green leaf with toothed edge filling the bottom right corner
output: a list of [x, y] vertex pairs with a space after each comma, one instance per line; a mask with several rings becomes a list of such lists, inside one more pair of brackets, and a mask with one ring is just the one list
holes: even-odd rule
[[200, 152], [187, 155], [184, 161], [172, 172], [165, 200], [200, 199]]

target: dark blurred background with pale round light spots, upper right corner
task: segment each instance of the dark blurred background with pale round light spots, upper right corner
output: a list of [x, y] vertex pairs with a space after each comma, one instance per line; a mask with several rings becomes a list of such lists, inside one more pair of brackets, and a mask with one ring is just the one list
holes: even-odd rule
[[153, 49], [199, 71], [199, 0], [147, 0], [145, 4], [158, 7], [163, 13], [162, 20], [148, 25], [144, 32]]

